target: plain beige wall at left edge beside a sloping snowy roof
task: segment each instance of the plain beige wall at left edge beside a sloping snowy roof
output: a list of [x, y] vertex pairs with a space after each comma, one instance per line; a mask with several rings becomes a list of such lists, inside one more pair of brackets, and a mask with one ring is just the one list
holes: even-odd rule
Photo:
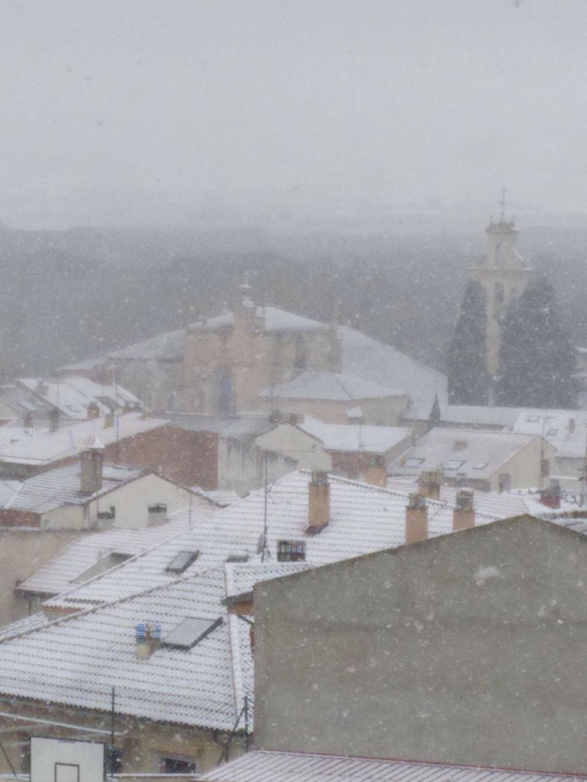
[[0, 625], [28, 613], [28, 601], [16, 594], [14, 587], [83, 534], [69, 529], [0, 529]]

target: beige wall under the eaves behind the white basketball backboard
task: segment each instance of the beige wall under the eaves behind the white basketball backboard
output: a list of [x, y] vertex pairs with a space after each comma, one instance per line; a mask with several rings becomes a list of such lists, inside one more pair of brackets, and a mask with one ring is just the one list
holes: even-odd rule
[[[8, 698], [0, 700], [0, 710], [11, 712], [18, 716], [34, 717], [35, 719], [47, 719], [52, 722], [71, 724], [72, 728], [46, 726], [36, 723], [15, 722], [9, 717], [0, 717], [0, 731], [2, 731], [2, 744], [9, 755], [13, 765], [18, 770], [27, 769], [27, 747], [15, 746], [16, 741], [27, 742], [29, 737], [85, 737], [95, 741], [110, 743], [110, 714], [92, 712], [90, 709], [74, 708], [59, 705], [36, 704], [32, 701], [16, 700], [10, 702]], [[14, 732], [16, 726], [21, 724], [23, 730]], [[75, 730], [74, 726], [103, 730], [103, 734], [84, 734], [81, 730]], [[4, 733], [5, 728], [9, 732]], [[214, 768], [220, 758], [223, 744], [228, 737], [221, 731], [200, 730], [196, 727], [173, 725], [172, 723], [153, 723], [148, 719], [136, 719], [129, 716], [116, 715], [115, 730], [124, 733], [124, 737], [116, 738], [117, 748], [122, 750], [122, 773], [149, 773], [150, 779], [157, 782], [160, 777], [160, 759], [162, 757], [179, 756], [190, 759], [198, 764], [200, 771], [208, 771]], [[243, 752], [243, 738], [237, 736], [232, 741], [230, 759], [236, 758]], [[10, 769], [5, 758], [0, 753], [0, 773], [9, 773]], [[185, 777], [178, 777], [185, 779]], [[169, 777], [167, 777], [167, 780]]]

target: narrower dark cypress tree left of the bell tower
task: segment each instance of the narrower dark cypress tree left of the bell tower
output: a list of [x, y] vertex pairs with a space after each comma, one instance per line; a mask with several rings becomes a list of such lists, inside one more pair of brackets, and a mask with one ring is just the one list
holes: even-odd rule
[[448, 347], [448, 404], [487, 404], [486, 313], [483, 286], [470, 282]]

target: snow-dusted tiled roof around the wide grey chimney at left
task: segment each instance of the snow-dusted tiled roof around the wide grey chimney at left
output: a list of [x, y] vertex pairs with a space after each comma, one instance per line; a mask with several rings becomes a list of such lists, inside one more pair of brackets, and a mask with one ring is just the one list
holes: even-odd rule
[[0, 507], [13, 511], [46, 513], [62, 505], [84, 505], [124, 483], [146, 475], [147, 472], [149, 471], [126, 465], [103, 465], [102, 488], [94, 494], [85, 494], [80, 491], [80, 465], [67, 465], [41, 472], [23, 481], [10, 481], [13, 492], [9, 497], [5, 497]]

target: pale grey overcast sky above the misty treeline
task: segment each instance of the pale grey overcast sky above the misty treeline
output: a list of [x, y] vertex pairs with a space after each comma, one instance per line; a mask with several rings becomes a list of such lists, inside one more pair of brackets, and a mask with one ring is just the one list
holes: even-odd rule
[[[587, 205], [587, 0], [0, 0], [0, 219]], [[440, 200], [439, 200], [440, 199]]]

